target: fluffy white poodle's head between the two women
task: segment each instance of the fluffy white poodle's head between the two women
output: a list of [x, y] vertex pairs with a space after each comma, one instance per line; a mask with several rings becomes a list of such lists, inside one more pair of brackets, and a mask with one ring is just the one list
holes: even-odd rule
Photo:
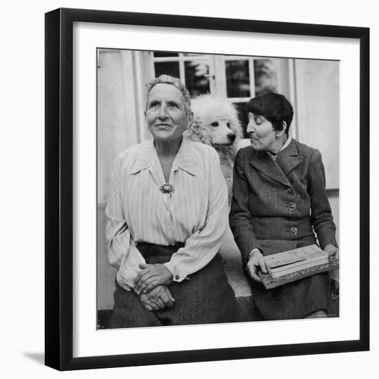
[[193, 141], [201, 141], [216, 149], [236, 146], [242, 127], [236, 108], [227, 99], [203, 94], [191, 101], [194, 121], [187, 130]]

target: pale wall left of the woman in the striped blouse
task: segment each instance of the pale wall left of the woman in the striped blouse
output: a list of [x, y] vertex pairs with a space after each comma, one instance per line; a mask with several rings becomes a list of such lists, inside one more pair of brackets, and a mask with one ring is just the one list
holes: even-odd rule
[[97, 198], [101, 205], [107, 201], [117, 154], [147, 134], [140, 55], [129, 50], [98, 51]]

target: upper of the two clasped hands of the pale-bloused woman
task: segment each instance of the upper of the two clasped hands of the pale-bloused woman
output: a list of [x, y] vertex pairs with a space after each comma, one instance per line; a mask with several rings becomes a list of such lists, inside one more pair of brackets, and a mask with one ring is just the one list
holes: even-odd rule
[[172, 274], [165, 265], [139, 265], [142, 269], [134, 279], [137, 295], [147, 294], [158, 285], [170, 285]]

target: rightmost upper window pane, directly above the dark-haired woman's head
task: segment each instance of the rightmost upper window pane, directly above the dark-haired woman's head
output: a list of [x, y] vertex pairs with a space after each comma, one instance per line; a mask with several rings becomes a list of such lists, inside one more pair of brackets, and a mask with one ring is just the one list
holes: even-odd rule
[[255, 92], [278, 92], [278, 72], [272, 59], [254, 59]]

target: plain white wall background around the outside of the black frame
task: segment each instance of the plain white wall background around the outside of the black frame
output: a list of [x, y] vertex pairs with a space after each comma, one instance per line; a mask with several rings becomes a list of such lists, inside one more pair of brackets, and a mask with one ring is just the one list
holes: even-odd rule
[[[199, 362], [59, 373], [43, 367], [44, 250], [44, 67], [43, 13], [59, 6], [251, 18], [300, 23], [369, 26], [371, 28], [371, 123], [379, 125], [379, 25], [375, 2], [272, 0], [269, 4], [234, 0], [217, 3], [125, 2], [109, 0], [13, 1], [2, 6], [1, 21], [1, 374], [4, 378], [360, 378], [378, 372], [379, 243], [376, 215], [378, 192], [378, 127], [371, 130], [371, 351], [284, 358]], [[356, 280], [356, 278], [351, 278]], [[254, 341], [254, 336], [252, 336]], [[125, 343], [133, 343], [125, 341]], [[147, 342], [148, 343], [148, 342]]]

